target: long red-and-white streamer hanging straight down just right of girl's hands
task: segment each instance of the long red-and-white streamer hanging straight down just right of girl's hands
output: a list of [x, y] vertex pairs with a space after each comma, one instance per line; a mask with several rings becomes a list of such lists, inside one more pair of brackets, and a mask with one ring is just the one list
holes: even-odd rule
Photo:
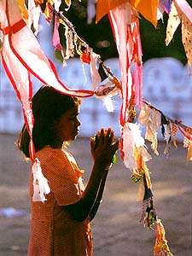
[[[130, 3], [124, 3], [115, 9], [111, 9], [108, 17], [119, 53], [122, 97], [119, 118], [119, 123], [122, 127], [121, 156], [126, 166], [128, 160], [125, 160], [125, 148], [127, 146], [125, 134], [127, 135], [129, 132], [127, 128], [131, 116], [130, 107], [131, 105], [135, 106], [136, 102], [139, 108], [142, 106], [142, 47], [137, 12], [131, 8]], [[136, 75], [135, 77], [134, 74]]]

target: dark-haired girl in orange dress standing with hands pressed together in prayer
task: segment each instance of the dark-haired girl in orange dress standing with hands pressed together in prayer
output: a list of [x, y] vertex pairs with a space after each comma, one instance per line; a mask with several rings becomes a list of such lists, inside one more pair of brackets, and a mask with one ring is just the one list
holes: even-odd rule
[[[74, 140], [81, 125], [80, 100], [44, 85], [32, 98], [34, 127], [32, 140], [36, 157], [47, 178], [50, 193], [46, 201], [32, 201], [33, 181], [30, 181], [31, 236], [28, 256], [90, 256], [93, 255], [90, 221], [102, 201], [113, 154], [119, 148], [114, 143], [113, 130], [101, 129], [99, 139], [90, 138], [94, 160], [90, 179], [84, 189], [83, 171], [67, 152], [67, 142]], [[30, 137], [24, 125], [18, 147], [29, 157]]]

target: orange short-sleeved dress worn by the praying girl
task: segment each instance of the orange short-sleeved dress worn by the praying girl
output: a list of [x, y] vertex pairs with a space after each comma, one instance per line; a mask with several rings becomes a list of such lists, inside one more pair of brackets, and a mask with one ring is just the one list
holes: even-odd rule
[[63, 206], [82, 196], [83, 171], [71, 154], [49, 146], [37, 152], [50, 193], [47, 201], [32, 201], [30, 181], [31, 236], [28, 256], [92, 256], [92, 235], [89, 220], [75, 221]]

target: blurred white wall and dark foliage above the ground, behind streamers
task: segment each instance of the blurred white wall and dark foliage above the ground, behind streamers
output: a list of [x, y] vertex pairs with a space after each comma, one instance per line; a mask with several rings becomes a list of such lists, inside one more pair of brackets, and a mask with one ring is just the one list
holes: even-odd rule
[[[118, 53], [108, 16], [95, 24], [95, 0], [72, 2], [71, 8], [64, 12], [64, 15], [73, 23], [79, 37], [101, 56], [102, 61], [120, 79]], [[182, 120], [184, 125], [190, 126], [192, 125], [192, 79], [186, 65], [181, 26], [178, 26], [172, 42], [166, 47], [167, 19], [168, 15], [165, 14], [163, 20], [159, 20], [157, 28], [154, 28], [143, 16], [140, 17], [143, 45], [143, 99], [155, 108], [159, 108], [166, 116]], [[64, 26], [60, 26], [63, 47], [66, 40], [64, 33]], [[52, 45], [52, 26], [47, 24], [43, 15], [38, 41], [44, 53], [54, 61], [57, 73], [64, 84], [74, 89], [91, 90], [90, 66], [84, 64], [83, 68], [78, 55], [67, 61], [67, 67], [62, 66], [61, 53]], [[21, 105], [3, 71], [2, 64], [0, 65], [0, 132], [17, 134], [23, 125]], [[32, 78], [32, 82], [35, 92], [41, 84], [35, 78]], [[101, 100], [94, 96], [85, 98], [80, 114], [82, 121], [80, 136], [90, 137], [101, 126], [112, 126], [119, 136], [121, 99], [114, 96], [113, 103], [114, 111], [108, 113]], [[143, 130], [142, 126], [141, 129]], [[177, 137], [181, 139], [179, 134]]]

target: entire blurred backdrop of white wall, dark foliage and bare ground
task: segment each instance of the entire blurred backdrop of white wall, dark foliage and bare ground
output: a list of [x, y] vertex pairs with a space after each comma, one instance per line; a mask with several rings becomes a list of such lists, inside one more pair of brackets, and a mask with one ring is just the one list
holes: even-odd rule
[[[118, 53], [108, 17], [95, 24], [95, 2], [74, 0], [65, 15], [73, 22], [79, 36], [84, 38], [96, 54], [101, 55], [102, 61], [120, 79]], [[166, 116], [192, 126], [192, 78], [186, 65], [181, 26], [177, 28], [171, 44], [166, 47], [166, 20], [167, 15], [154, 28], [142, 16], [140, 19], [143, 99], [159, 108]], [[65, 46], [62, 26], [60, 33]], [[44, 16], [41, 17], [38, 41], [44, 53], [54, 61], [64, 84], [74, 89], [91, 90], [90, 67], [84, 64], [83, 69], [78, 56], [67, 61], [67, 67], [62, 67], [60, 52], [52, 46], [52, 26], [46, 23]], [[35, 93], [42, 84], [33, 77], [32, 82]], [[116, 136], [120, 135], [121, 100], [115, 96], [113, 101], [113, 113], [108, 113], [103, 102], [95, 96], [83, 101], [79, 139], [71, 143], [69, 150], [75, 156], [79, 168], [85, 170], [84, 183], [90, 176], [92, 166], [88, 137], [101, 126], [112, 126]], [[15, 146], [23, 122], [20, 102], [0, 62], [0, 255], [3, 256], [26, 256], [30, 236], [28, 182], [31, 163], [23, 160]], [[142, 126], [141, 129], [144, 132]], [[169, 157], [163, 154], [165, 142], [158, 144], [159, 156], [151, 152], [147, 143], [152, 155], [148, 169], [153, 184], [154, 207], [165, 226], [166, 238], [174, 256], [191, 254], [191, 163], [188, 166], [185, 163], [187, 148], [183, 148], [182, 138], [177, 132], [180, 143], [177, 143], [177, 150], [172, 145]], [[139, 222], [142, 202], [137, 201], [138, 187], [131, 181], [131, 172], [125, 168], [119, 154], [112, 169], [108, 175], [102, 206], [92, 222], [94, 255], [153, 255], [154, 230], [146, 230]]]

